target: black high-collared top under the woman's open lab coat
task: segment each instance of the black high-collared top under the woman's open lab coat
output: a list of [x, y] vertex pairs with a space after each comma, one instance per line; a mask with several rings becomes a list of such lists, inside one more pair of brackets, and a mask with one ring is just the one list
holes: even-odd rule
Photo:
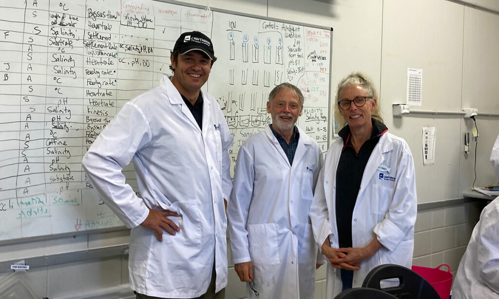
[[[371, 153], [379, 138], [388, 130], [386, 126], [371, 120], [373, 131], [356, 153], [350, 140], [350, 127], [345, 126], [338, 135], [343, 139], [338, 167], [336, 168], [336, 225], [338, 227], [339, 247], [352, 247], [352, 215], [360, 182]], [[359, 219], [362, 221], [361, 219]]]

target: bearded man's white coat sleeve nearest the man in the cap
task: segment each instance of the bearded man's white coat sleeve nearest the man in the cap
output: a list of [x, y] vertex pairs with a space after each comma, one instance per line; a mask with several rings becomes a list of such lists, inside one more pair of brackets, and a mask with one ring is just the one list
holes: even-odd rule
[[247, 223], [253, 194], [253, 163], [253, 155], [246, 147], [241, 147], [234, 172], [231, 200], [227, 208], [232, 261], [234, 264], [251, 261]]

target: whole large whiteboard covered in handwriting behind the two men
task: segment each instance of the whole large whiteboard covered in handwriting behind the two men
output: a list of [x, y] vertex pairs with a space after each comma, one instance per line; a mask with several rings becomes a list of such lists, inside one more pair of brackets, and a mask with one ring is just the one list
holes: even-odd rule
[[[330, 30], [150, 0], [0, 0], [0, 241], [123, 226], [81, 158], [124, 103], [171, 74], [175, 40], [192, 30], [215, 45], [204, 88], [226, 115], [234, 161], [270, 121], [280, 82], [304, 91], [299, 126], [327, 150]], [[123, 172], [136, 190], [133, 165]]]

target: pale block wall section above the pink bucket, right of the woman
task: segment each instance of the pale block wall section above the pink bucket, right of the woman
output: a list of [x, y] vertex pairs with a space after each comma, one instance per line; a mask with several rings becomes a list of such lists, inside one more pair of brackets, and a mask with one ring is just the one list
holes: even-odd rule
[[413, 264], [433, 268], [447, 264], [456, 275], [485, 204], [476, 201], [418, 211]]

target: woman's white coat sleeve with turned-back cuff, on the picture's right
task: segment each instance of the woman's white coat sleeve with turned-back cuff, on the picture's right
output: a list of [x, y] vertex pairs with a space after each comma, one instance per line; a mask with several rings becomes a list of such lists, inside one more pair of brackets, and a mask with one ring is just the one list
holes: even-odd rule
[[385, 218], [374, 227], [378, 241], [390, 251], [414, 229], [417, 215], [414, 161], [407, 144], [401, 150], [391, 204]]

